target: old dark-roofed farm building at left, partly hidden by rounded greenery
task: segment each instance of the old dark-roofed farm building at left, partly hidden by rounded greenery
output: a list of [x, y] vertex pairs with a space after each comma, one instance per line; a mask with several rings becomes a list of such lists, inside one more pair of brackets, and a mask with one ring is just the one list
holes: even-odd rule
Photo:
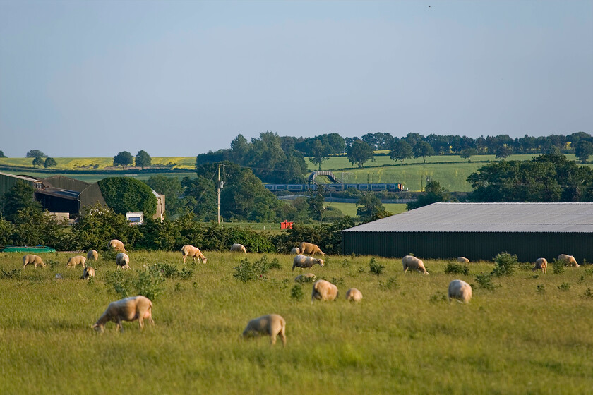
[[[25, 181], [35, 188], [35, 200], [49, 212], [68, 213], [70, 216], [76, 216], [82, 212], [83, 207], [90, 207], [96, 202], [104, 206], [107, 205], [98, 183], [87, 183], [64, 176], [39, 179], [8, 173], [0, 173], [0, 200], [18, 180]], [[155, 190], [152, 190], [152, 193], [157, 198], [157, 212], [154, 218], [163, 219], [164, 195], [160, 195]]]

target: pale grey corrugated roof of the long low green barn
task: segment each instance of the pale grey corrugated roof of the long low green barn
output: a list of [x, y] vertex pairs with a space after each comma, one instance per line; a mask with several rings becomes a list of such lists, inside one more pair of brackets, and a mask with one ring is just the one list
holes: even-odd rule
[[593, 232], [593, 203], [433, 203], [344, 232]]

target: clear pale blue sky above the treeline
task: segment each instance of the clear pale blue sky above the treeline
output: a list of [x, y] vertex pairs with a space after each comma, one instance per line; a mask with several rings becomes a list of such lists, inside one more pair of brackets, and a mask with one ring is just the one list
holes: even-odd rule
[[593, 133], [593, 0], [0, 0], [0, 150]]

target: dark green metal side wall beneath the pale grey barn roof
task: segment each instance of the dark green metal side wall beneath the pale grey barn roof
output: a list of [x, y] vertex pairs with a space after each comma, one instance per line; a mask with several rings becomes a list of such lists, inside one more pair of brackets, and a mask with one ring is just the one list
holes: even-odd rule
[[506, 251], [521, 262], [539, 257], [551, 260], [574, 255], [577, 262], [593, 262], [593, 233], [486, 233], [486, 232], [342, 232], [342, 253], [469, 260], [491, 260]]

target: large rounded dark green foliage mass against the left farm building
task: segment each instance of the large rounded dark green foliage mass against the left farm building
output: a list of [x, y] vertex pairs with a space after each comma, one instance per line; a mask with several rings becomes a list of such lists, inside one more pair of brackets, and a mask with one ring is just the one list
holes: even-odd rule
[[145, 217], [152, 218], [157, 212], [157, 198], [148, 185], [136, 178], [103, 178], [99, 188], [107, 206], [118, 214], [143, 212]]

